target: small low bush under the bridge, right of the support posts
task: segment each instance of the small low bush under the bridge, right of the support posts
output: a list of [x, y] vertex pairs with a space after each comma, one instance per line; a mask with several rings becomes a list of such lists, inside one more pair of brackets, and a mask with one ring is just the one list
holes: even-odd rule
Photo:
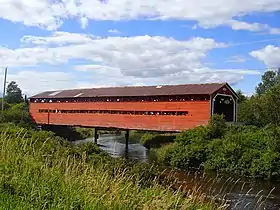
[[154, 148], [160, 147], [163, 144], [174, 142], [176, 138], [176, 134], [152, 134], [146, 133], [144, 134], [141, 139], [140, 143], [144, 145], [146, 148]]

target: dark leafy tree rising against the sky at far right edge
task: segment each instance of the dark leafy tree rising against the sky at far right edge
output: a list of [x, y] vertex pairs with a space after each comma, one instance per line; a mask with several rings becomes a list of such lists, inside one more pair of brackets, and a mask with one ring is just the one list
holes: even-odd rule
[[280, 84], [280, 68], [277, 71], [265, 72], [262, 75], [262, 82], [256, 88], [256, 92], [258, 95], [262, 95], [277, 84]]

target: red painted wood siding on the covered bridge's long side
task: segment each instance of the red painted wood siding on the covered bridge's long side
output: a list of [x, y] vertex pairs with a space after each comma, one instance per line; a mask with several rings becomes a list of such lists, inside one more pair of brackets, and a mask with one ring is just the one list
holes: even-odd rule
[[[85, 102], [30, 103], [30, 113], [37, 124], [80, 125], [123, 129], [182, 131], [206, 125], [210, 119], [209, 101], [185, 102]], [[86, 113], [39, 113], [39, 109], [188, 111], [187, 116], [116, 115]], [[48, 116], [49, 115], [49, 116]]]

